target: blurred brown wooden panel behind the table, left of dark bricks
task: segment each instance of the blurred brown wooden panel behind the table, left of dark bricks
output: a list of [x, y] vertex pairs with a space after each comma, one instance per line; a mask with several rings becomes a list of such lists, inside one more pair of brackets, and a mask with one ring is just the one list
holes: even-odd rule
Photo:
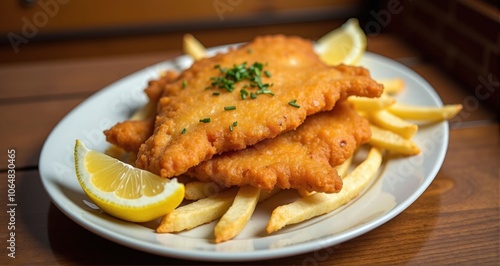
[[273, 33], [314, 39], [368, 6], [365, 0], [4, 0], [0, 61], [174, 50], [186, 32], [207, 46]]

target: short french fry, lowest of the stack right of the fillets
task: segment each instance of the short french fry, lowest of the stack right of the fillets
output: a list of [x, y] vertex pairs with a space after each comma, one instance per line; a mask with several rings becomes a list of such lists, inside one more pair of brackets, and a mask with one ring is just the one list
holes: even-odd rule
[[400, 135], [377, 126], [370, 125], [372, 136], [369, 143], [375, 147], [394, 151], [402, 155], [416, 155], [420, 153], [420, 148], [410, 139], [405, 139]]

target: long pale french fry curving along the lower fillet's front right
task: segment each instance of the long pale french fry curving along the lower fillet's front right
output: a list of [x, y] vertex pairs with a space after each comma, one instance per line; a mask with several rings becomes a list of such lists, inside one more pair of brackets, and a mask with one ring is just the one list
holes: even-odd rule
[[268, 233], [286, 225], [300, 223], [313, 217], [332, 212], [358, 196], [375, 176], [382, 163], [382, 152], [371, 148], [366, 159], [344, 179], [340, 192], [315, 193], [295, 202], [274, 209], [266, 227]]

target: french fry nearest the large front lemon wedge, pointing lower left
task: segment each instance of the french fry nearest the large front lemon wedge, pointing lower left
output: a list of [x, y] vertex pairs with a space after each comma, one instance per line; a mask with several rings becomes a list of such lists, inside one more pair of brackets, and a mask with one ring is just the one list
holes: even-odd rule
[[231, 207], [237, 192], [236, 188], [231, 188], [215, 196], [179, 207], [161, 219], [156, 232], [180, 232], [216, 220]]

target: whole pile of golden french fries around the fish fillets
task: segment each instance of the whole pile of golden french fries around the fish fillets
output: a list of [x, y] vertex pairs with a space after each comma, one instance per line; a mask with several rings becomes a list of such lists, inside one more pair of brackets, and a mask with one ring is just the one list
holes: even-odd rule
[[[184, 36], [183, 47], [194, 60], [206, 56], [205, 47], [192, 35]], [[404, 81], [396, 78], [379, 82], [385, 87], [380, 98], [348, 98], [371, 124], [372, 136], [367, 156], [358, 165], [352, 165], [351, 157], [336, 167], [344, 183], [339, 193], [297, 191], [300, 195], [298, 200], [275, 208], [266, 227], [268, 233], [330, 213], [357, 197], [377, 175], [384, 151], [406, 156], [419, 154], [420, 149], [412, 140], [418, 125], [410, 121], [443, 121], [454, 117], [462, 109], [460, 104], [425, 107], [397, 103], [392, 96], [404, 89]], [[163, 217], [157, 232], [181, 232], [218, 220], [214, 227], [215, 243], [236, 237], [259, 202], [280, 192], [279, 189], [261, 191], [250, 186], [222, 188], [215, 183], [193, 180], [187, 181], [185, 189], [185, 199], [189, 202]]]

